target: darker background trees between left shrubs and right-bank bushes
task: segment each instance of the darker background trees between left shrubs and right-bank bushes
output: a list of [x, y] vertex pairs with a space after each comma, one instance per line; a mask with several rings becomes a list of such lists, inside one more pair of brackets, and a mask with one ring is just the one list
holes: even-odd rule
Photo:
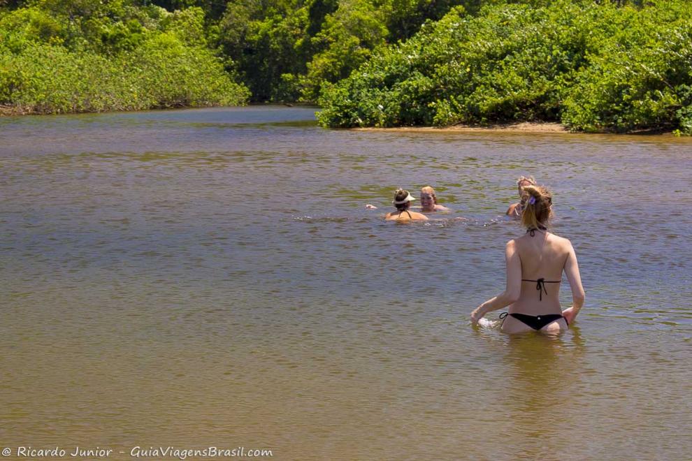
[[[493, 0], [486, 0], [490, 3]], [[237, 63], [256, 101], [316, 101], [375, 48], [409, 38], [426, 20], [481, 0], [236, 0], [217, 45]]]

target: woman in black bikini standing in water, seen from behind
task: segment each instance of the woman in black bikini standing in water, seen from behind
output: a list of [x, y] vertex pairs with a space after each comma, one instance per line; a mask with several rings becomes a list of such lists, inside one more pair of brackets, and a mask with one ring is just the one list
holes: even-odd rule
[[[584, 305], [584, 288], [579, 277], [577, 256], [572, 243], [548, 232], [552, 217], [552, 196], [542, 186], [524, 186], [528, 195], [521, 214], [526, 233], [507, 242], [507, 287], [471, 313], [475, 325], [488, 312], [510, 306], [502, 331], [523, 333], [532, 330], [559, 332], [566, 330]], [[572, 289], [572, 307], [561, 310], [560, 281], [565, 271]]]

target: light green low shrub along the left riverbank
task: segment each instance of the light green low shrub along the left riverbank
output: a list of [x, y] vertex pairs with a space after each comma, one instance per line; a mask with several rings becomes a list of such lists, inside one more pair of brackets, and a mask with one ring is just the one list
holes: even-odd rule
[[[45, 19], [34, 13], [15, 12], [10, 20]], [[199, 12], [192, 17], [199, 18]], [[5, 36], [13, 40], [0, 42], [0, 105], [20, 113], [99, 112], [237, 105], [250, 96], [196, 32], [181, 36], [173, 26], [170, 32], [147, 31], [134, 20], [110, 27], [119, 32], [108, 36], [113, 41], [106, 54], [94, 50], [99, 47], [69, 49], [52, 34], [45, 43], [45, 37], [22, 35], [21, 27], [6, 27]]]

